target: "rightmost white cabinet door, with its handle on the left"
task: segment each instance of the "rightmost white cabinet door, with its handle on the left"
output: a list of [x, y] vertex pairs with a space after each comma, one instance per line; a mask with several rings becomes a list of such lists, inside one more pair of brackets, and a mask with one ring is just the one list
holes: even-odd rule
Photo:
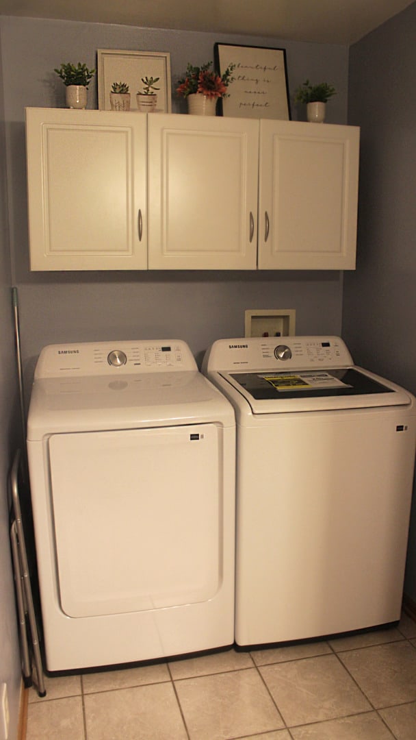
[[261, 121], [259, 268], [355, 269], [359, 129]]

